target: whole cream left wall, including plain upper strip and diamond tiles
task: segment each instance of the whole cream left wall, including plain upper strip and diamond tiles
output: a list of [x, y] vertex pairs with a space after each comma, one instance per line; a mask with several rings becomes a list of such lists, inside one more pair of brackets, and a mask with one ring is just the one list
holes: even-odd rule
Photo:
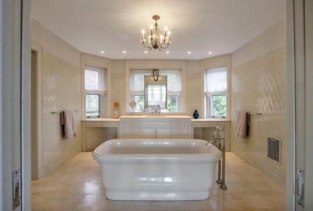
[[80, 52], [35, 20], [31, 40], [43, 47], [43, 170], [44, 175], [81, 151], [81, 113], [74, 112], [78, 136], [64, 139], [60, 114], [51, 111], [81, 110]]

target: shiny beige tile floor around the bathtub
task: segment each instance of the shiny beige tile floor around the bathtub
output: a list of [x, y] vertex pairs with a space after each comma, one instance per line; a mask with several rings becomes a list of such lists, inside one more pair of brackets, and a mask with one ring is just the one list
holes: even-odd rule
[[227, 190], [214, 183], [203, 201], [111, 201], [91, 152], [81, 152], [41, 180], [33, 180], [32, 211], [285, 211], [283, 185], [231, 152], [225, 158]]

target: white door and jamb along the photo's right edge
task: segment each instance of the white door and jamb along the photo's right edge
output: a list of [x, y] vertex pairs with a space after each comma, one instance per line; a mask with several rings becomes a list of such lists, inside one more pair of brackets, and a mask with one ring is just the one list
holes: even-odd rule
[[287, 36], [289, 52], [287, 125], [290, 139], [288, 167], [293, 164], [292, 168], [287, 169], [287, 210], [311, 211], [313, 210], [312, 0], [287, 0]]

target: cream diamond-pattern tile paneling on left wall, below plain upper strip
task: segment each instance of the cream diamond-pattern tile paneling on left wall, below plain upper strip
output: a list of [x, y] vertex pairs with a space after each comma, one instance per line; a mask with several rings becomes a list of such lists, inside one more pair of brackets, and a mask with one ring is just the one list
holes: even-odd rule
[[81, 148], [81, 113], [74, 112], [77, 137], [62, 136], [60, 114], [51, 111], [81, 110], [80, 67], [44, 51], [43, 55], [43, 155], [44, 173], [61, 166]]

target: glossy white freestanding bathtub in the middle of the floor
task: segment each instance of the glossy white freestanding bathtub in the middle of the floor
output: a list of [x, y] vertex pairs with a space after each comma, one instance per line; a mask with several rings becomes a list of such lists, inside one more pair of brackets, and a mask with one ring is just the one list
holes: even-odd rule
[[221, 151], [199, 139], [113, 139], [92, 152], [111, 200], [204, 200]]

